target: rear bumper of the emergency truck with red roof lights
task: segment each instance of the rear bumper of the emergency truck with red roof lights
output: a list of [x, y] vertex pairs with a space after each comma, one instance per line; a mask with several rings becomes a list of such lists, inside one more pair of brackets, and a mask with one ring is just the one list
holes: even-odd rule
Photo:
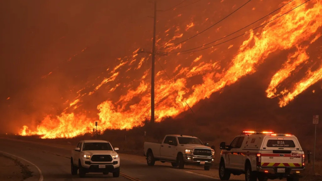
[[271, 175], [271, 176], [275, 175], [278, 177], [289, 177], [289, 176], [294, 176], [294, 175], [298, 175], [299, 177], [301, 177], [300, 174], [305, 169], [305, 167], [281, 167], [281, 168], [285, 168], [285, 172], [280, 173], [280, 172], [277, 172], [277, 168], [278, 167], [257, 166], [257, 171], [262, 172], [263, 174], [266, 174], [266, 175]]

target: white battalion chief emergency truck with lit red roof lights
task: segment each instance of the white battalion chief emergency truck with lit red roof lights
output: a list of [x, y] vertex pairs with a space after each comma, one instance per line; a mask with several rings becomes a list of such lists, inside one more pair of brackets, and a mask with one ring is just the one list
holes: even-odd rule
[[304, 152], [294, 135], [244, 131], [230, 145], [220, 144], [219, 177], [245, 174], [246, 181], [299, 180], [304, 170]]

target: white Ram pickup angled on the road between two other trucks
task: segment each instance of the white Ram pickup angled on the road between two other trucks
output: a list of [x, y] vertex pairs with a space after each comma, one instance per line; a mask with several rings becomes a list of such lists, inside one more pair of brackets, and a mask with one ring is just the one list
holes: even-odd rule
[[213, 149], [193, 136], [166, 135], [162, 143], [144, 142], [144, 156], [149, 166], [153, 166], [155, 161], [161, 161], [171, 162], [172, 166], [181, 169], [187, 164], [195, 164], [209, 170], [214, 155]]

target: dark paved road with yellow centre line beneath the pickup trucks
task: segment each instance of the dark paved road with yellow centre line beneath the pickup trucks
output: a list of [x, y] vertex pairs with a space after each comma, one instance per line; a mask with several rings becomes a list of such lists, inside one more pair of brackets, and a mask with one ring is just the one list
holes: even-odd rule
[[[0, 139], [0, 151], [4, 151], [21, 158], [24, 158], [36, 166], [42, 172], [44, 180], [84, 180], [78, 175], [70, 174], [70, 150], [66, 148], [58, 148], [49, 145], [41, 145], [39, 143], [23, 142], [17, 140]], [[219, 180], [213, 176], [200, 174], [187, 167], [187, 169], [172, 168], [170, 164], [157, 163], [155, 166], [147, 166], [146, 163], [138, 156], [120, 154], [121, 173], [132, 178], [132, 180], [153, 181], [153, 180]], [[194, 171], [194, 172], [192, 172]], [[199, 172], [202, 172], [199, 168]], [[208, 172], [217, 172], [210, 170]], [[103, 175], [101, 173], [89, 173], [86, 180], [129, 180], [125, 176], [113, 178], [112, 174]], [[134, 178], [134, 179], [133, 179]]]

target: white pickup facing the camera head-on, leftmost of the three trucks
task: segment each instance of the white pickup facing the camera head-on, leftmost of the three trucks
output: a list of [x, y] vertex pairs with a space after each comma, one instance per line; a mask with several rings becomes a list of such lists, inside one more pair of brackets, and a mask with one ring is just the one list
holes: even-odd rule
[[113, 173], [113, 177], [120, 175], [120, 157], [108, 141], [84, 140], [79, 141], [77, 147], [71, 151], [71, 174], [85, 177], [88, 172]]

